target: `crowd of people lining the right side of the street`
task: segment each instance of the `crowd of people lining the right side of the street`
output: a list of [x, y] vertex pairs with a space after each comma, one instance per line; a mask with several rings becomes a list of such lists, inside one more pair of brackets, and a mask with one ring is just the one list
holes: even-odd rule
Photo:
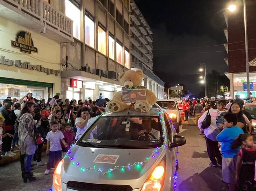
[[230, 191], [256, 190], [256, 136], [252, 116], [244, 109], [246, 102], [256, 100], [212, 98], [183, 103], [185, 120], [195, 116], [200, 135], [205, 137], [209, 164], [222, 167], [222, 179]]

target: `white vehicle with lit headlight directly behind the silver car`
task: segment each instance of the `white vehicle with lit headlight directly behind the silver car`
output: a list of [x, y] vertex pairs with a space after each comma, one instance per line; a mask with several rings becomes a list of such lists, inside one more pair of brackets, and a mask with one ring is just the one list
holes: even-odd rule
[[181, 110], [182, 107], [179, 107], [179, 104], [176, 100], [157, 100], [156, 104], [152, 108], [163, 108], [168, 113], [172, 123], [176, 128], [176, 132], [179, 133], [179, 126], [182, 123], [181, 119]]

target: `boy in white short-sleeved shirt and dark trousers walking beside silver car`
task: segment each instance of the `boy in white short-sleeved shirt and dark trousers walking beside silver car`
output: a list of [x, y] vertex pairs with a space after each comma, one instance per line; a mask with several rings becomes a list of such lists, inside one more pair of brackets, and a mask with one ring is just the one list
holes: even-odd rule
[[68, 147], [68, 144], [64, 140], [64, 135], [61, 131], [58, 130], [59, 124], [56, 121], [51, 122], [52, 131], [50, 131], [46, 135], [47, 140], [47, 149], [46, 153], [49, 154], [49, 159], [47, 162], [47, 168], [44, 174], [49, 174], [50, 169], [52, 167], [56, 167], [58, 162], [60, 161], [61, 157], [61, 144], [60, 141], [63, 143], [65, 147]]

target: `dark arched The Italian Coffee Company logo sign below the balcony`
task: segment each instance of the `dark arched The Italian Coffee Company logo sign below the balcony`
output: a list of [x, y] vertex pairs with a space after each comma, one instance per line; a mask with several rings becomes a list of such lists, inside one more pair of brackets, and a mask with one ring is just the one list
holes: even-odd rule
[[31, 54], [31, 52], [38, 53], [37, 48], [34, 47], [31, 33], [20, 31], [16, 35], [16, 41], [11, 40], [11, 46], [19, 48], [20, 52]]

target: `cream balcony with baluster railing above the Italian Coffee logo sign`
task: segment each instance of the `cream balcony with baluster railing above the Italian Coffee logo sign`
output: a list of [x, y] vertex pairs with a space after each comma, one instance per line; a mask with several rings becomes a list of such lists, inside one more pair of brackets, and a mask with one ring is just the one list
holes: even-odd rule
[[0, 16], [39, 34], [46, 27], [42, 34], [54, 41], [73, 41], [73, 21], [45, 0], [0, 0]]

